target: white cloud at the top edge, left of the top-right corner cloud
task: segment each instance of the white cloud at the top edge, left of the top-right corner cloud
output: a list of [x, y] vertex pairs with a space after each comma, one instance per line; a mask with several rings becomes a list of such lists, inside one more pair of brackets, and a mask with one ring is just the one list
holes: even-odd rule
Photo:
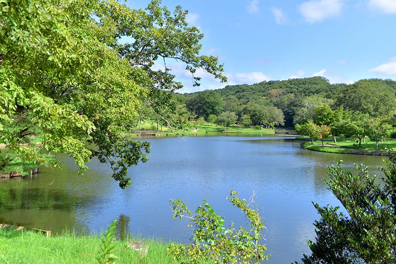
[[299, 10], [305, 21], [315, 23], [341, 13], [344, 0], [311, 0], [303, 2]]

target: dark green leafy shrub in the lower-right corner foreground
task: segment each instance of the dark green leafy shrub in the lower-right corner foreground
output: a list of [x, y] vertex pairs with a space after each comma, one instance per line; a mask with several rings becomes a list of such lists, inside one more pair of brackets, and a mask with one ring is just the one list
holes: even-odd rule
[[316, 239], [308, 241], [312, 254], [304, 255], [303, 263], [395, 263], [396, 156], [388, 152], [388, 157], [382, 182], [364, 165], [356, 165], [356, 175], [341, 161], [329, 167], [326, 183], [347, 213], [314, 203], [321, 218], [314, 222]]

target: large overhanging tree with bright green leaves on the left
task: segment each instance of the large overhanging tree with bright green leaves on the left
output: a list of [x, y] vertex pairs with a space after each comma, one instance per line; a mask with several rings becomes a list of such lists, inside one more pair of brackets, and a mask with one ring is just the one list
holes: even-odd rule
[[[159, 0], [146, 10], [112, 0], [4, 0], [0, 10], [0, 141], [27, 161], [55, 163], [44, 148], [68, 154], [84, 170], [98, 157], [125, 188], [128, 167], [148, 160], [149, 143], [128, 135], [142, 109], [172, 129], [185, 124], [173, 114], [171, 93], [181, 84], [166, 60], [184, 63], [194, 85], [198, 68], [226, 81], [217, 57], [199, 55], [203, 35], [180, 6], [171, 12]], [[158, 61], [164, 70], [152, 69]], [[36, 131], [43, 146], [31, 144]]]

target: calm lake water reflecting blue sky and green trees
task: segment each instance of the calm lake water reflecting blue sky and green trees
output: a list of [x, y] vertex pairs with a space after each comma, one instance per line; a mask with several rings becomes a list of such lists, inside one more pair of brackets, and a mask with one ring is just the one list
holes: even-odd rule
[[188, 243], [189, 221], [174, 219], [168, 201], [180, 198], [191, 210], [202, 200], [230, 223], [244, 217], [225, 199], [232, 189], [249, 198], [253, 190], [267, 221], [267, 263], [291, 263], [309, 254], [318, 214], [311, 201], [339, 205], [323, 182], [326, 165], [363, 162], [379, 173], [386, 157], [312, 152], [275, 136], [149, 138], [150, 160], [130, 169], [132, 186], [121, 190], [97, 160], [78, 175], [73, 160], [58, 155], [63, 169], [41, 168], [24, 180], [0, 182], [0, 222], [58, 231], [100, 231], [115, 218], [122, 232]]

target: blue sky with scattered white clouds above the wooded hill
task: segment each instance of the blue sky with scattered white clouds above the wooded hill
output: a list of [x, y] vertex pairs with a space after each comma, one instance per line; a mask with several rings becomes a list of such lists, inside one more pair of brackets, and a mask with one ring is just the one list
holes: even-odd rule
[[[130, 0], [132, 8], [149, 0]], [[396, 0], [163, 0], [182, 5], [202, 33], [202, 54], [217, 55], [229, 82], [198, 71], [193, 87], [183, 64], [168, 61], [182, 93], [324, 76], [331, 83], [396, 80]], [[158, 68], [162, 67], [159, 63]]]

